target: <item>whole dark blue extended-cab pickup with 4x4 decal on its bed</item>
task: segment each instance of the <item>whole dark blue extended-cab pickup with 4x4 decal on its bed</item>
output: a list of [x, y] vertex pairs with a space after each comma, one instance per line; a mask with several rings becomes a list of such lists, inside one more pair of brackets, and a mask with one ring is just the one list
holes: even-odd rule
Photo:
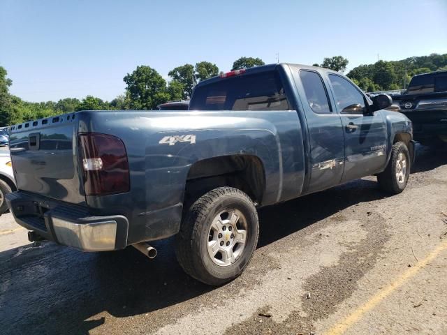
[[29, 239], [81, 251], [175, 237], [186, 273], [209, 285], [241, 274], [258, 240], [257, 207], [375, 174], [404, 190], [411, 121], [340, 73], [274, 64], [197, 84], [187, 111], [82, 111], [11, 127]]

